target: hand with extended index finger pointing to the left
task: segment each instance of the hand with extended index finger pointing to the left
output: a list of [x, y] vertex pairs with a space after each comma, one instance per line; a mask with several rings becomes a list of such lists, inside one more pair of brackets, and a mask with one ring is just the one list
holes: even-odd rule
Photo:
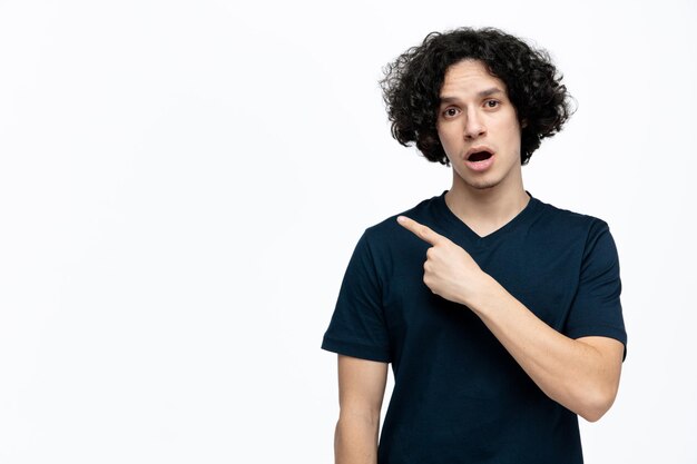
[[469, 253], [448, 237], [405, 216], [397, 217], [397, 223], [416, 237], [433, 245], [428, 249], [423, 264], [423, 283], [431, 292], [451, 302], [472, 307], [489, 275], [479, 267]]

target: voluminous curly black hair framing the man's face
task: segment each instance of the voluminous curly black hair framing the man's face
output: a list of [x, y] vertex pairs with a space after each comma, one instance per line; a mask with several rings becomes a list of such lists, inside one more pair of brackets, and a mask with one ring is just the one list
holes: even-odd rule
[[416, 144], [429, 161], [450, 166], [435, 127], [445, 71], [465, 59], [482, 61], [505, 83], [521, 125], [520, 164], [527, 165], [540, 141], [561, 130], [571, 116], [571, 96], [549, 53], [495, 28], [431, 32], [384, 68], [380, 81], [392, 136]]

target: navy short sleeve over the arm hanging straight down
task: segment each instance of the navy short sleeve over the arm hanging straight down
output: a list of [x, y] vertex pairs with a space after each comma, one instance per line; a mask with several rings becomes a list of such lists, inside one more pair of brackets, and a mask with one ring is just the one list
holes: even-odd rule
[[382, 289], [366, 231], [348, 261], [322, 349], [390, 362]]

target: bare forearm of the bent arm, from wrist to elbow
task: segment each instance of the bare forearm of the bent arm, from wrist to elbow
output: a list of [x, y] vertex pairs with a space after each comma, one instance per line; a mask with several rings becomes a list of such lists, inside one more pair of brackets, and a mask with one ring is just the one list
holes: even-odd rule
[[619, 372], [599, 349], [558, 333], [489, 276], [469, 306], [550, 398], [588, 421], [610, 407]]

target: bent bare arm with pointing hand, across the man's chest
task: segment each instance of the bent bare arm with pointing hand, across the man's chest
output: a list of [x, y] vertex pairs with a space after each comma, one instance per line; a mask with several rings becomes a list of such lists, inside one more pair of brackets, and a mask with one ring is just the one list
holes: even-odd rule
[[621, 373], [621, 342], [562, 335], [446, 237], [409, 218], [400, 224], [432, 245], [424, 263], [429, 288], [474, 312], [542, 392], [589, 422], [610, 408]]

